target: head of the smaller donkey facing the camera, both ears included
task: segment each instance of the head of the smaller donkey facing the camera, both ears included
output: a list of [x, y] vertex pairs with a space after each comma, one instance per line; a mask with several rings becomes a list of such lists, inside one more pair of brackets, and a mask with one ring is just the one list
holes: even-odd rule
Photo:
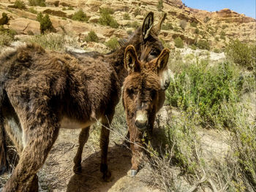
[[124, 53], [124, 66], [129, 75], [124, 81], [123, 102], [127, 120], [140, 130], [153, 127], [159, 105], [161, 77], [170, 51], [165, 48], [151, 61], [139, 61], [135, 47], [129, 45]]

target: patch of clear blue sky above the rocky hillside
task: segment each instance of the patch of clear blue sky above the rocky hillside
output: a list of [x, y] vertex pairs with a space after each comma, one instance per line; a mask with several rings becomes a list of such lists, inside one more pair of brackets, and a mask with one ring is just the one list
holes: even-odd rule
[[210, 12], [223, 8], [231, 9], [255, 18], [255, 0], [181, 0], [187, 7], [203, 9]]

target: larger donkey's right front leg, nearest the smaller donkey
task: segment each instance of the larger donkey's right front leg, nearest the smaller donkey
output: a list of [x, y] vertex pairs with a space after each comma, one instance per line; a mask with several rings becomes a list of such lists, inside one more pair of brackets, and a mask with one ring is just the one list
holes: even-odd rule
[[100, 172], [103, 174], [103, 180], [109, 181], [111, 172], [108, 170], [108, 143], [110, 134], [110, 123], [113, 119], [114, 112], [109, 115], [102, 117], [102, 130], [100, 133], [100, 149], [102, 150], [102, 160], [100, 164]]

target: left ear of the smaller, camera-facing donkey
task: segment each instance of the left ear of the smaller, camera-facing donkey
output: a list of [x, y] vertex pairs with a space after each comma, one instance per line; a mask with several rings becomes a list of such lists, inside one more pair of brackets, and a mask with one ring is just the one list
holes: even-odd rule
[[124, 53], [124, 68], [129, 74], [132, 72], [140, 72], [140, 61], [133, 45], [128, 45]]

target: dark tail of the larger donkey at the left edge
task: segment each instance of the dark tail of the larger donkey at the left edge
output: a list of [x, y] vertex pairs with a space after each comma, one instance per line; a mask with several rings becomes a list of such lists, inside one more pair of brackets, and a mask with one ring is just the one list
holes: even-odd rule
[[4, 131], [4, 117], [2, 113], [5, 98], [6, 93], [4, 93], [3, 86], [0, 82], [0, 175], [6, 172], [9, 167], [7, 162], [7, 145]]

